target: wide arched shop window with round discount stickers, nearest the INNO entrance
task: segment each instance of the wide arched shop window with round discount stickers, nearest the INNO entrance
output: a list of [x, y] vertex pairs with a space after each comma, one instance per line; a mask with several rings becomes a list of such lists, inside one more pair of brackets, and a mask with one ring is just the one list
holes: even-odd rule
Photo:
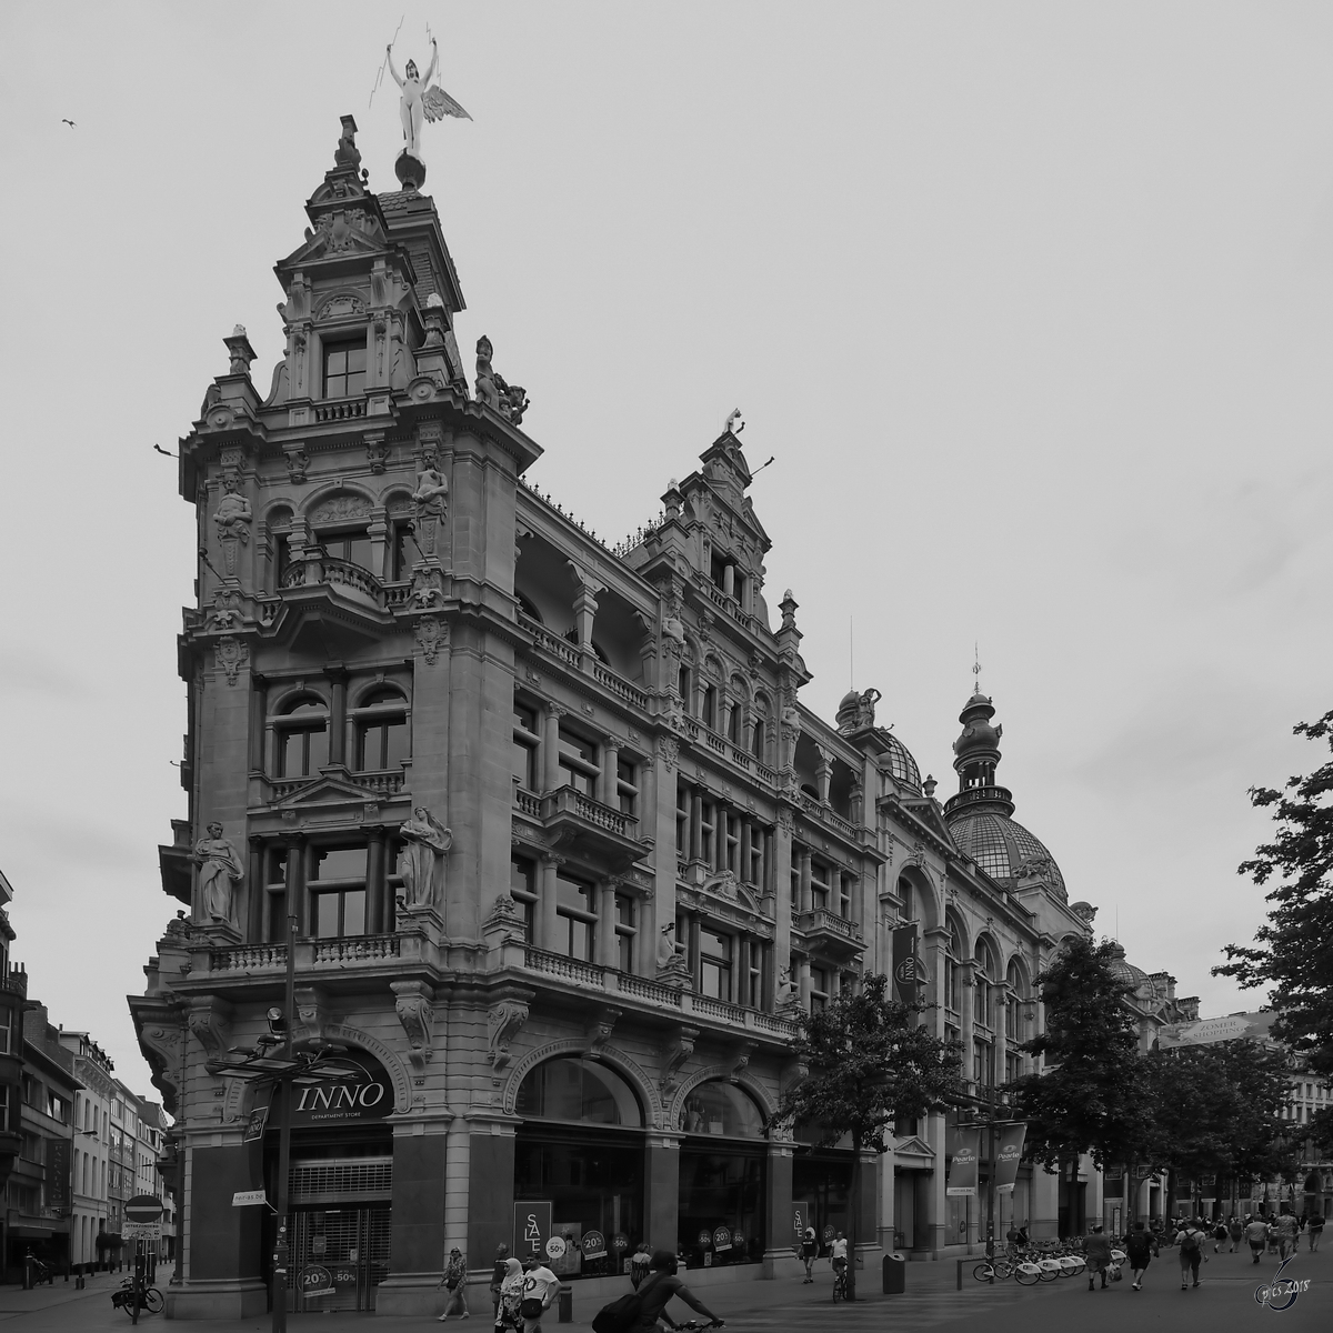
[[551, 1205], [564, 1280], [619, 1273], [644, 1240], [644, 1117], [633, 1089], [591, 1060], [537, 1065], [519, 1089], [516, 1202]]

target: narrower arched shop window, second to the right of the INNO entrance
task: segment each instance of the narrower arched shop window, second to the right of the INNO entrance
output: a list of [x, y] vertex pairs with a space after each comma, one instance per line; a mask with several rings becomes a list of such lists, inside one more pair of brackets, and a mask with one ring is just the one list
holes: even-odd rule
[[733, 1084], [700, 1084], [680, 1128], [677, 1248], [690, 1268], [764, 1258], [768, 1142], [764, 1117]]

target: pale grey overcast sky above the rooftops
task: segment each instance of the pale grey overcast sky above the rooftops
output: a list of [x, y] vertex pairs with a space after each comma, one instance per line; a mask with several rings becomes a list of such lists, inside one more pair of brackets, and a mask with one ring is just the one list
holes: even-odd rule
[[1333, 9], [404, 5], [0, 7], [0, 869], [51, 1020], [149, 1090], [195, 569], [153, 445], [237, 323], [267, 392], [272, 265], [340, 115], [396, 188], [371, 95], [428, 27], [459, 341], [527, 387], [531, 480], [617, 539], [741, 408], [805, 701], [880, 689], [945, 797], [978, 657], [1070, 897], [1256, 1008], [1209, 976], [1264, 917], [1246, 792], [1333, 708]]

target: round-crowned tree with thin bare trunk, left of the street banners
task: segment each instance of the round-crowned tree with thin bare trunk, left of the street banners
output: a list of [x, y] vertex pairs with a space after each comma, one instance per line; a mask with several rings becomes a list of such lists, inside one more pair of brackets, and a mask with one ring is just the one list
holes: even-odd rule
[[814, 1126], [821, 1148], [852, 1138], [849, 1301], [856, 1300], [861, 1150], [885, 1152], [886, 1134], [900, 1116], [924, 1116], [961, 1089], [957, 1042], [932, 1036], [917, 1021], [921, 1006], [893, 1000], [888, 988], [888, 977], [873, 973], [858, 993], [844, 990], [801, 1016], [793, 1050], [804, 1072], [770, 1121]]

